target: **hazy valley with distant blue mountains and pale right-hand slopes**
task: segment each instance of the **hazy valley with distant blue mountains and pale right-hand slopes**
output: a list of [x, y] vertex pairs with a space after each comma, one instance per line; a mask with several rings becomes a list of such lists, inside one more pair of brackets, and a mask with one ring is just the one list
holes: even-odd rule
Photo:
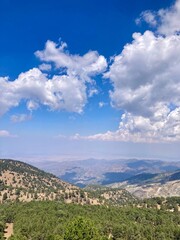
[[162, 160], [98, 160], [39, 162], [36, 166], [79, 187], [123, 188], [137, 198], [180, 196], [180, 162]]

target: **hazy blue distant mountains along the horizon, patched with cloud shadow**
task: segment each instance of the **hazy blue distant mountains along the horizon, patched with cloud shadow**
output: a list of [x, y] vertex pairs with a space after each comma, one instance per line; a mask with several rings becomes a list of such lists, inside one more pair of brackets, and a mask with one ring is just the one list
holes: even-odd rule
[[146, 159], [87, 159], [64, 162], [36, 162], [36, 166], [72, 184], [85, 187], [123, 182], [137, 174], [159, 174], [180, 169], [180, 162]]

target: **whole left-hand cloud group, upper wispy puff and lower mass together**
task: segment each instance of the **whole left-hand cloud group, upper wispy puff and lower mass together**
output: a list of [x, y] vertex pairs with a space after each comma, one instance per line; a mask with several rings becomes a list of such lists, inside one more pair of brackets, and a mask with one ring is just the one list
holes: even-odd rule
[[[67, 45], [58, 46], [47, 41], [43, 51], [37, 51], [36, 56], [42, 63], [38, 68], [21, 73], [14, 81], [0, 78], [1, 98], [0, 115], [12, 107], [17, 107], [26, 101], [27, 109], [33, 111], [40, 105], [50, 110], [65, 110], [81, 113], [87, 99], [95, 94], [93, 76], [102, 73], [107, 66], [106, 59], [96, 51], [90, 51], [83, 56], [71, 55], [65, 51]], [[56, 74], [51, 78], [42, 71], [49, 71], [51, 64], [56, 66]], [[42, 71], [41, 71], [42, 70]], [[24, 116], [13, 117], [15, 121]]]

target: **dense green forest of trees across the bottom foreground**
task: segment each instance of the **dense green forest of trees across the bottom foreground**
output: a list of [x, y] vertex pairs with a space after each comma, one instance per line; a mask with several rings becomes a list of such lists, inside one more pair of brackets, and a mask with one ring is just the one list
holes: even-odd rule
[[10, 240], [180, 239], [180, 214], [133, 206], [90, 206], [59, 201], [0, 205], [0, 239], [14, 223]]

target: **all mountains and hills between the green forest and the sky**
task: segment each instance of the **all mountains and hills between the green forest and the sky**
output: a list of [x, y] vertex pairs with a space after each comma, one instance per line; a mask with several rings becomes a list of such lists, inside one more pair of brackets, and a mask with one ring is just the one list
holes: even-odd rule
[[0, 202], [63, 200], [100, 205], [180, 196], [179, 162], [89, 159], [37, 165], [51, 173], [20, 161], [1, 159]]

